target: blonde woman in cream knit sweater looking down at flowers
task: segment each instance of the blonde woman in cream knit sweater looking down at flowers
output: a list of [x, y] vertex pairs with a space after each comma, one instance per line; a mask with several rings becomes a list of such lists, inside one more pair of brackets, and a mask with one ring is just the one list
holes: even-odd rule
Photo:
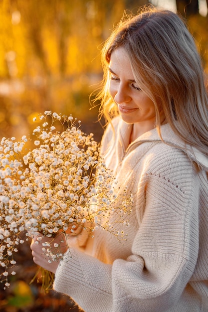
[[208, 97], [194, 40], [177, 14], [121, 21], [102, 53], [102, 155], [134, 207], [123, 243], [77, 232], [71, 258], [36, 264], [86, 312], [208, 311]]

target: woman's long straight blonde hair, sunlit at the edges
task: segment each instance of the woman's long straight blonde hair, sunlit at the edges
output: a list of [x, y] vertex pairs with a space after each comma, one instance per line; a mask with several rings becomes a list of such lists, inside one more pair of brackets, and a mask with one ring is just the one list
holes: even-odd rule
[[[108, 66], [112, 52], [127, 52], [140, 88], [152, 99], [160, 134], [162, 109], [186, 144], [208, 155], [208, 96], [195, 41], [184, 21], [166, 9], [146, 7], [136, 16], [124, 16], [102, 49], [104, 70], [101, 114], [110, 122], [118, 115], [109, 94]], [[177, 123], [176, 123], [177, 121]]]

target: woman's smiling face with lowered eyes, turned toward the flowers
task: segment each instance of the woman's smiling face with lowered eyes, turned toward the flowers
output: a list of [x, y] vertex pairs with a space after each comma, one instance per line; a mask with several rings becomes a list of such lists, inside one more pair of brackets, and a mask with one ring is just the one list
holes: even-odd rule
[[128, 124], [138, 124], [149, 131], [155, 127], [155, 106], [140, 89], [130, 61], [123, 48], [114, 50], [110, 64], [110, 94], [118, 106], [121, 118]]

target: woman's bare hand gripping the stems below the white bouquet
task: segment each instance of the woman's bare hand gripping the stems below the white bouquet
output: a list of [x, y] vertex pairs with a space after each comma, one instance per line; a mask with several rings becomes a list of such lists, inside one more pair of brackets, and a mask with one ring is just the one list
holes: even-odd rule
[[[41, 240], [39, 240], [41, 238]], [[50, 243], [50, 247], [44, 247], [42, 244], [45, 242]], [[57, 246], [57, 247], [56, 247]], [[58, 233], [56, 237], [45, 237], [39, 234], [38, 237], [32, 239], [30, 248], [32, 250], [33, 261], [43, 269], [48, 270], [55, 274], [56, 269], [59, 265], [60, 260], [50, 261], [50, 257], [46, 256], [47, 251], [43, 251], [43, 248], [49, 249], [52, 254], [65, 253], [67, 250], [67, 242], [63, 233]]]

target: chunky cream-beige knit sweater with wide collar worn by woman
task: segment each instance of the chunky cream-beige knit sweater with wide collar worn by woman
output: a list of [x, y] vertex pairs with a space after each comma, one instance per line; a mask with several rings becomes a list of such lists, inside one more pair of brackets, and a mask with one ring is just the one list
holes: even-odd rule
[[54, 289], [86, 312], [208, 312], [208, 158], [187, 154], [169, 125], [169, 144], [154, 129], [128, 147], [131, 125], [113, 123], [102, 152], [134, 196], [127, 241], [103, 230], [73, 237]]

